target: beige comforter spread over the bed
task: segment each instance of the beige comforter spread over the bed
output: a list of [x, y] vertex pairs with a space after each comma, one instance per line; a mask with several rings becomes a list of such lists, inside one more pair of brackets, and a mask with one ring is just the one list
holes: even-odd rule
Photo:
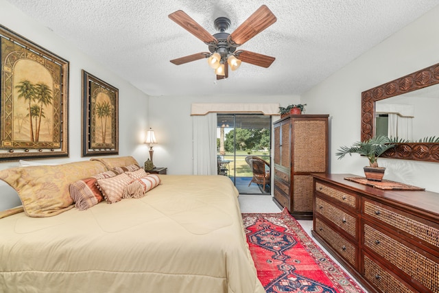
[[265, 292], [224, 176], [161, 176], [141, 199], [0, 220], [0, 292]]

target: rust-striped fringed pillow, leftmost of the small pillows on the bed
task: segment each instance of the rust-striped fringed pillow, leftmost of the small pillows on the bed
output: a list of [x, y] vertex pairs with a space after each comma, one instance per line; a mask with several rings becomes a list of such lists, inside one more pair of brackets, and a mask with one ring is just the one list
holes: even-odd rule
[[70, 196], [75, 202], [75, 207], [84, 211], [102, 202], [104, 195], [97, 187], [97, 179], [112, 178], [118, 174], [115, 171], [106, 171], [71, 183]]

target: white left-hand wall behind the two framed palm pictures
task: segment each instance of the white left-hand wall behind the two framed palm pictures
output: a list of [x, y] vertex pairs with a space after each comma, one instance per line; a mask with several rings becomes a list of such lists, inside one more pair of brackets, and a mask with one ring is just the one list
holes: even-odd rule
[[[86, 56], [74, 44], [60, 38], [47, 27], [30, 19], [8, 1], [0, 0], [0, 23], [32, 42], [69, 60], [69, 158], [41, 159], [38, 162], [65, 163], [88, 160], [81, 157], [81, 69], [95, 75], [119, 89], [119, 155], [132, 155], [139, 162], [147, 156], [147, 145], [142, 143], [147, 125], [147, 99], [145, 93], [108, 71], [105, 65]], [[86, 32], [84, 32], [86, 34]], [[0, 163], [0, 169], [16, 167], [14, 162]], [[1, 180], [0, 180], [1, 181]], [[0, 183], [0, 194], [5, 196], [8, 187]], [[1, 203], [1, 202], [0, 202]], [[1, 209], [1, 207], [0, 207]]]

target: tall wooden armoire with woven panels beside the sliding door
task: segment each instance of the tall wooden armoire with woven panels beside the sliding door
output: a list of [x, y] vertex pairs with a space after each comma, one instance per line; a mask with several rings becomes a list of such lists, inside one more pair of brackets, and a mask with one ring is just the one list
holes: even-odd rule
[[312, 220], [313, 176], [327, 173], [329, 115], [289, 115], [274, 122], [274, 201]]

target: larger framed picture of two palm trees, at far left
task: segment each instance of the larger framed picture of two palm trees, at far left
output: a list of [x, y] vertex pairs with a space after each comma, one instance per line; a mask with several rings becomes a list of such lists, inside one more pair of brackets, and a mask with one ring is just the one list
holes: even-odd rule
[[0, 25], [0, 161], [69, 156], [69, 61]]

